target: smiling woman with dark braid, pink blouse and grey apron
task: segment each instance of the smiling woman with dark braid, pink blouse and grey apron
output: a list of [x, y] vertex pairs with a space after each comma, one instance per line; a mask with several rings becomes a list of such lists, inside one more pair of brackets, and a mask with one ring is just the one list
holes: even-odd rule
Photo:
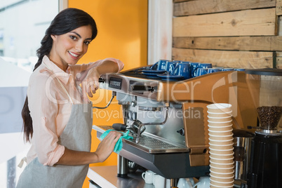
[[111, 131], [90, 152], [93, 111], [87, 95], [98, 89], [100, 74], [123, 68], [113, 58], [76, 65], [96, 35], [93, 18], [76, 8], [58, 13], [46, 30], [22, 109], [32, 147], [17, 187], [82, 187], [88, 164], [105, 161], [121, 137]]

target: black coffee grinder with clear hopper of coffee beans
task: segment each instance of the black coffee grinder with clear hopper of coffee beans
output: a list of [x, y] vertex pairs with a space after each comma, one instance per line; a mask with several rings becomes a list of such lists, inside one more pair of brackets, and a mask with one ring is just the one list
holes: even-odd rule
[[[246, 81], [257, 108], [251, 143], [248, 188], [282, 187], [282, 69], [247, 69]], [[279, 123], [280, 121], [280, 123]]]

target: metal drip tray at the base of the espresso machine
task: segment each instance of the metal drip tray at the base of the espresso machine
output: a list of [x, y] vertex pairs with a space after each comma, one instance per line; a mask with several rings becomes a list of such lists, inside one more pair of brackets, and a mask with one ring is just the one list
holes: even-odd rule
[[[97, 130], [98, 133], [100, 133], [97, 133], [97, 137], [100, 137], [100, 135], [102, 135], [105, 130], [112, 129], [112, 126], [93, 126], [93, 129]], [[132, 136], [133, 139], [123, 139], [123, 142], [149, 154], [177, 153], [190, 151], [190, 149], [185, 145], [180, 145], [178, 143], [171, 142], [170, 140], [166, 140], [162, 137], [158, 137], [150, 133], [142, 133], [138, 144], [135, 143], [136, 135], [130, 134], [130, 136]]]

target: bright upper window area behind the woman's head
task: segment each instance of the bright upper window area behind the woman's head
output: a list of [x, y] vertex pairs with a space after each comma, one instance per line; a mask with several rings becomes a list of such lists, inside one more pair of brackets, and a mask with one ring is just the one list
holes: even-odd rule
[[58, 6], [58, 0], [1, 0], [0, 57], [32, 71], [36, 50]]

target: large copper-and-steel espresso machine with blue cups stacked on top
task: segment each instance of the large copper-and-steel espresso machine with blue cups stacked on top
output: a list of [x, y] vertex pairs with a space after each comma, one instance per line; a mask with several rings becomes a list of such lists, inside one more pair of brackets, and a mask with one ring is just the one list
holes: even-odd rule
[[[119, 161], [154, 171], [167, 180], [209, 174], [208, 113], [211, 103], [230, 103], [234, 128], [255, 123], [244, 72], [227, 71], [171, 81], [142, 74], [138, 67], [102, 75], [100, 88], [112, 90], [122, 105], [126, 129], [133, 140], [123, 140]], [[102, 129], [112, 126], [99, 126]], [[121, 172], [121, 170], [120, 170]], [[128, 172], [123, 170], [123, 173]]]

